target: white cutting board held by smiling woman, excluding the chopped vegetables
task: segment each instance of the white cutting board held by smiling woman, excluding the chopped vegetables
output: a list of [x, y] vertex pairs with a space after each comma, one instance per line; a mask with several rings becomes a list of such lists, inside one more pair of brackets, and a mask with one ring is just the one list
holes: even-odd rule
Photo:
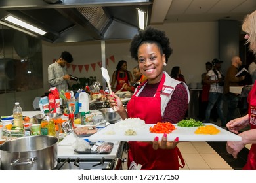
[[[155, 124], [146, 124], [144, 129], [135, 129], [137, 135], [128, 136], [124, 135], [126, 130], [121, 130], [117, 128], [116, 124], [111, 124], [101, 129], [97, 133], [91, 135], [89, 138], [90, 141], [153, 141], [156, 136], [159, 137], [159, 141], [161, 141], [161, 137], [163, 137], [163, 133], [150, 133], [149, 127]], [[216, 135], [203, 135], [203, 134], [195, 134], [194, 132], [198, 127], [179, 127], [177, 124], [174, 124], [177, 129], [167, 134], [168, 141], [173, 141], [176, 137], [179, 137], [179, 141], [241, 141], [241, 137], [231, 133], [230, 131], [226, 131], [221, 127], [215, 124], [205, 124], [205, 125], [213, 125], [220, 132]], [[110, 135], [110, 131], [114, 131], [114, 135]]]

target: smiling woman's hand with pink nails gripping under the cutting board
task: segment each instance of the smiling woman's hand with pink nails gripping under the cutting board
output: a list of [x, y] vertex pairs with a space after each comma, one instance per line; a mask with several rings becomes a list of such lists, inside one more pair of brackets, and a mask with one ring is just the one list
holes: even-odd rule
[[155, 137], [153, 141], [153, 149], [157, 150], [160, 149], [174, 149], [177, 144], [179, 143], [179, 137], [176, 137], [173, 142], [167, 141], [167, 134], [164, 133], [163, 137], [161, 138], [161, 142], [158, 141], [158, 137]]

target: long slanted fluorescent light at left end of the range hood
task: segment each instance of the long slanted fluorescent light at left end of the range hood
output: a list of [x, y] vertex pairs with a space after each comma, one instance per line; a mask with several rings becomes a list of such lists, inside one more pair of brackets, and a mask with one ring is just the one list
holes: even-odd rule
[[33, 31], [35, 33], [38, 33], [39, 35], [44, 35], [46, 33], [42, 29], [39, 29], [39, 28], [37, 28], [33, 25], [30, 25], [26, 22], [23, 22], [22, 20], [19, 20], [18, 18], [15, 18], [11, 15], [7, 16], [7, 18], [5, 18], [5, 20], [7, 20], [8, 22], [11, 22], [12, 24], [19, 25], [21, 27], [24, 27], [25, 29], [28, 29], [28, 30]]

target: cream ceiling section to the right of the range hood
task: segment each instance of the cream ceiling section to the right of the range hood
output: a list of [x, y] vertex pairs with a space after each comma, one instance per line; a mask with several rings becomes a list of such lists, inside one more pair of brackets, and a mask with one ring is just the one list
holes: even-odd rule
[[242, 21], [254, 10], [255, 0], [154, 0], [150, 24]]

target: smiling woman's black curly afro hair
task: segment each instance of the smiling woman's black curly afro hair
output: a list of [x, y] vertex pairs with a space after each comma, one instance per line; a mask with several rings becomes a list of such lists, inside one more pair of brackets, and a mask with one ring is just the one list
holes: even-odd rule
[[146, 27], [144, 30], [140, 30], [139, 34], [133, 37], [130, 44], [131, 57], [135, 60], [138, 60], [139, 46], [144, 43], [156, 44], [158, 48], [160, 48], [161, 54], [165, 54], [166, 63], [168, 62], [168, 58], [171, 56], [173, 49], [164, 31], [154, 29], [150, 26]]

